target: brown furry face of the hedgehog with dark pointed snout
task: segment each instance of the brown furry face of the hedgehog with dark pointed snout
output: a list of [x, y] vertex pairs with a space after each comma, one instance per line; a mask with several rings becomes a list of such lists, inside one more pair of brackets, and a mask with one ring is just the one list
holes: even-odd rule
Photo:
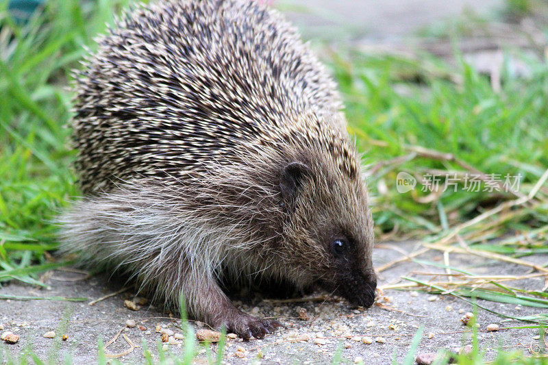
[[[356, 164], [353, 148], [346, 148]], [[289, 184], [295, 190], [282, 192], [285, 219], [280, 251], [284, 264], [295, 268], [297, 284], [320, 284], [351, 303], [369, 307], [375, 298], [377, 279], [371, 262], [373, 221], [367, 191], [358, 173], [359, 165], [345, 171], [334, 156], [326, 153], [300, 155], [290, 162]], [[284, 183], [282, 182], [282, 186]], [[284, 188], [282, 188], [282, 191]], [[343, 255], [334, 253], [332, 244], [347, 244]]]

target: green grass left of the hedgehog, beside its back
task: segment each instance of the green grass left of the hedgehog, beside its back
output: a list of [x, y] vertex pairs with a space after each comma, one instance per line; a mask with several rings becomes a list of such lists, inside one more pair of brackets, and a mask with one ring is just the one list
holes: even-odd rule
[[69, 166], [71, 68], [128, 1], [50, 1], [25, 25], [0, 1], [0, 283], [58, 264], [52, 218], [78, 194]]

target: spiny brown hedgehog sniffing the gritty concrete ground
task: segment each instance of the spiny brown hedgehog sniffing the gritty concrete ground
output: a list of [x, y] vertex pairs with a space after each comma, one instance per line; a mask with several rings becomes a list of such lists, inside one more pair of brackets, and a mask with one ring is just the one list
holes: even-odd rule
[[164, 0], [97, 42], [75, 77], [83, 197], [60, 217], [62, 251], [245, 340], [282, 324], [239, 310], [223, 283], [372, 305], [360, 155], [334, 80], [281, 14]]

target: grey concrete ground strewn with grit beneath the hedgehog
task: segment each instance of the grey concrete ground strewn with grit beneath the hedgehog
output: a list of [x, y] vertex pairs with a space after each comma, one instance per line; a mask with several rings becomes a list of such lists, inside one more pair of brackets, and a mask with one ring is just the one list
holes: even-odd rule
[[[375, 249], [375, 266], [391, 262], [401, 257], [401, 252], [392, 249], [403, 249], [412, 252], [416, 249], [413, 243], [394, 244]], [[440, 262], [440, 253], [430, 252], [420, 256], [422, 260]], [[527, 260], [546, 262], [548, 255], [528, 257]], [[500, 262], [489, 262], [476, 257], [451, 255], [451, 264], [475, 273], [521, 275], [527, 273], [527, 268]], [[402, 276], [412, 275], [421, 279], [432, 279], [421, 273], [443, 273], [443, 270], [432, 266], [406, 262], [389, 268], [382, 273], [379, 280], [381, 286], [400, 281]], [[122, 288], [121, 284], [105, 284], [106, 277], [92, 277], [85, 280], [67, 281], [81, 278], [82, 275], [55, 271], [47, 279], [51, 290], [38, 290], [32, 286], [8, 284], [0, 289], [0, 294], [14, 296], [62, 296], [86, 297], [88, 300], [97, 299], [108, 292], [115, 292]], [[436, 280], [441, 280], [438, 277]], [[544, 281], [528, 279], [522, 281], [525, 288], [540, 290]], [[390, 364], [393, 358], [401, 362], [408, 353], [412, 336], [419, 326], [424, 326], [423, 339], [419, 352], [436, 352], [438, 349], [454, 349], [471, 343], [471, 332], [460, 322], [463, 313], [473, 310], [473, 306], [465, 301], [451, 296], [433, 296], [419, 292], [414, 294], [407, 291], [386, 290], [385, 296], [389, 302], [382, 302], [386, 307], [372, 307], [369, 310], [350, 307], [345, 301], [305, 301], [303, 303], [277, 303], [268, 299], [255, 298], [249, 303], [240, 303], [247, 312], [258, 316], [276, 316], [288, 326], [288, 329], [279, 331], [275, 335], [267, 336], [264, 340], [240, 342], [240, 339], [229, 340], [225, 351], [227, 364], [247, 364], [260, 360], [263, 364], [290, 364], [302, 362], [308, 364], [329, 364], [338, 349], [342, 347], [342, 356], [349, 362], [362, 357], [366, 364]], [[157, 344], [160, 333], [155, 332], [157, 325], [169, 326], [175, 332], [182, 332], [180, 320], [169, 318], [169, 314], [160, 312], [153, 307], [144, 306], [138, 311], [128, 310], [123, 302], [131, 298], [131, 292], [116, 294], [99, 303], [90, 306], [88, 302], [70, 303], [64, 301], [0, 301], [0, 323], [3, 331], [13, 331], [21, 336], [16, 344], [2, 344], [0, 349], [7, 349], [12, 355], [21, 353], [28, 347], [34, 349], [42, 358], [48, 358], [51, 349], [60, 347], [59, 361], [65, 355], [71, 355], [75, 364], [94, 364], [97, 361], [97, 340], [102, 338], [108, 342], [116, 333], [125, 327], [128, 318], [146, 330], [134, 327], [123, 331], [125, 335], [140, 346], [145, 341], [153, 354], [157, 353]], [[492, 310], [526, 316], [545, 312], [539, 308], [521, 307], [516, 310], [514, 305], [478, 301]], [[308, 320], [299, 319], [301, 308], [306, 310]], [[503, 322], [494, 314], [484, 310], [477, 313], [477, 323], [480, 329], [485, 329], [490, 323], [497, 323], [501, 327], [526, 325], [516, 321]], [[192, 324], [197, 329], [197, 325]], [[66, 327], [66, 329], [63, 329]], [[56, 331], [54, 339], [42, 337], [47, 331]], [[150, 332], [149, 332], [150, 331]], [[432, 333], [431, 338], [427, 333]], [[60, 336], [66, 334], [66, 341]], [[543, 349], [542, 340], [534, 339], [538, 335], [536, 329], [507, 329], [497, 332], [479, 331], [479, 342], [482, 350], [488, 357], [495, 355], [496, 349], [518, 349], [519, 351], [538, 351]], [[372, 344], [361, 342], [362, 337], [373, 339]], [[376, 342], [378, 337], [384, 342]], [[298, 338], [306, 339], [299, 341]], [[308, 338], [308, 339], [307, 339]], [[324, 344], [325, 343], [325, 344]], [[183, 349], [170, 345], [173, 353], [182, 353]], [[216, 345], [210, 345], [216, 351]], [[243, 348], [245, 357], [236, 357], [238, 348]], [[120, 336], [114, 344], [108, 347], [111, 353], [120, 353], [129, 348], [128, 343]], [[4, 351], [5, 351], [4, 350]], [[238, 351], [242, 353], [242, 351]], [[156, 355], [157, 356], [157, 355]], [[205, 361], [206, 355], [199, 358]], [[158, 358], [158, 357], [157, 357]], [[143, 360], [142, 348], [137, 347], [120, 358], [123, 362], [140, 362]]]

